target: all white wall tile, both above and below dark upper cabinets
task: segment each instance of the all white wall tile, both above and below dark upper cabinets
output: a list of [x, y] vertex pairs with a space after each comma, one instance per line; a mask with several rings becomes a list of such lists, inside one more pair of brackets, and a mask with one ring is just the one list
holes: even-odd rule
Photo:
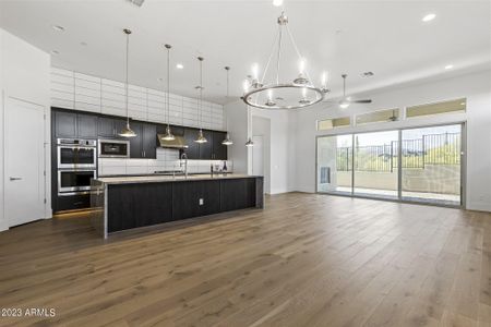
[[[125, 117], [124, 84], [51, 68], [51, 106], [82, 111]], [[130, 117], [137, 120], [167, 123], [164, 110], [165, 93], [129, 85], [128, 108]], [[169, 121], [171, 124], [199, 128], [197, 99], [170, 94]], [[224, 130], [224, 107], [203, 101], [203, 129]], [[209, 172], [211, 165], [223, 167], [219, 160], [189, 160], [188, 172]], [[227, 161], [228, 171], [233, 164]], [[157, 159], [98, 160], [98, 175], [145, 174], [161, 170], [180, 170], [179, 150], [157, 148]]]

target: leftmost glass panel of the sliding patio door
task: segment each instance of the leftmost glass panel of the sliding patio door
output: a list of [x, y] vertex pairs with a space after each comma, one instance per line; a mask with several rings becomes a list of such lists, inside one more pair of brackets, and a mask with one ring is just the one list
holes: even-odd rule
[[351, 194], [352, 135], [318, 138], [318, 192]]

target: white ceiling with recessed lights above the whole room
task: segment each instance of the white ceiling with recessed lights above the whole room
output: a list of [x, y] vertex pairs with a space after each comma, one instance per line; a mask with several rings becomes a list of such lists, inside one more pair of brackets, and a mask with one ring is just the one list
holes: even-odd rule
[[[331, 96], [342, 92], [342, 73], [349, 75], [348, 93], [355, 93], [491, 64], [488, 0], [285, 0], [285, 5], [311, 77], [330, 72]], [[164, 87], [158, 78], [165, 76], [163, 44], [168, 43], [173, 46], [171, 92], [195, 96], [195, 57], [202, 55], [204, 96], [216, 102], [231, 100], [225, 98], [225, 65], [231, 66], [233, 96], [241, 95], [253, 62], [264, 68], [279, 13], [272, 0], [146, 0], [142, 8], [127, 0], [0, 0], [0, 26], [46, 51], [59, 51], [52, 57], [56, 66], [123, 81], [122, 28], [130, 27], [130, 83]], [[421, 22], [427, 13], [436, 19]], [[291, 78], [297, 72], [292, 58], [284, 57], [284, 74]], [[175, 69], [177, 62], [184, 69]], [[454, 69], [444, 70], [446, 64]], [[361, 77], [366, 71], [375, 75]]]

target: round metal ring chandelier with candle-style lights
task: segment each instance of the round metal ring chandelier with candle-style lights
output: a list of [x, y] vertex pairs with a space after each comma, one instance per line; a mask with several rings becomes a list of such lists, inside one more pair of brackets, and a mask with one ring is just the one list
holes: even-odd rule
[[[327, 74], [325, 72], [322, 74], [319, 87], [313, 84], [306, 70], [306, 60], [300, 55], [288, 28], [288, 17], [285, 12], [282, 12], [277, 23], [278, 32], [263, 75], [261, 78], [259, 77], [259, 68], [258, 64], [254, 64], [252, 75], [244, 81], [242, 100], [249, 106], [261, 109], [298, 109], [322, 101], [328, 92], [326, 86]], [[289, 38], [299, 60], [298, 76], [287, 82], [280, 82], [279, 80], [284, 37]], [[265, 77], [273, 57], [276, 57], [276, 78], [273, 82], [266, 82]]]

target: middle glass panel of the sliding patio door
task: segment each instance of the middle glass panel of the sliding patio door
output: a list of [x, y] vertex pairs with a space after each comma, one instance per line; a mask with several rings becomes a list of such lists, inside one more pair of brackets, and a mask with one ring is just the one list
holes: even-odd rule
[[398, 131], [355, 134], [354, 194], [398, 198]]

